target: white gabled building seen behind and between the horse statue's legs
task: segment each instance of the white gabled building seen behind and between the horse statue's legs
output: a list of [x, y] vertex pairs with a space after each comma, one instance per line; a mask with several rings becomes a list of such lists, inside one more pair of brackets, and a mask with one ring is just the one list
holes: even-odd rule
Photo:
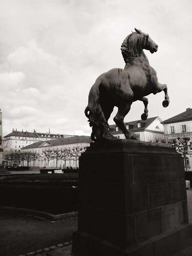
[[[151, 117], [145, 121], [136, 120], [124, 124], [127, 130], [136, 133], [141, 141], [156, 142], [164, 139], [164, 127], [160, 117]], [[125, 139], [125, 135], [116, 125], [110, 125], [109, 132], [119, 139]]]

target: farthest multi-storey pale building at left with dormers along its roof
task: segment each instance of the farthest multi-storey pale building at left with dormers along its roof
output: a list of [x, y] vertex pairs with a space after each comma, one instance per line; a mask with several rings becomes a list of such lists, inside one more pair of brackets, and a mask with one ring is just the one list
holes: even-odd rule
[[68, 137], [74, 137], [74, 135], [53, 134], [50, 132], [50, 129], [49, 132], [42, 133], [36, 132], [36, 130], [33, 130], [33, 132], [28, 132], [27, 130], [18, 131], [13, 128], [11, 133], [3, 137], [3, 144], [8, 150], [12, 149], [19, 152], [21, 148], [37, 141], [47, 141]]

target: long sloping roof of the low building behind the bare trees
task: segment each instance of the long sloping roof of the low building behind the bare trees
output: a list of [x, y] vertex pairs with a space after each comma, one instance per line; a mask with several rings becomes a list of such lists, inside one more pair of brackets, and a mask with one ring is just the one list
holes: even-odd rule
[[42, 144], [49, 144], [50, 146], [60, 146], [60, 145], [67, 145], [67, 144], [76, 144], [76, 143], [91, 143], [93, 142], [91, 140], [90, 136], [74, 136], [69, 138], [59, 138], [54, 140], [47, 140], [47, 141], [40, 141], [35, 142], [33, 144], [30, 144], [26, 147], [23, 147], [21, 149], [27, 149], [27, 148], [39, 148]]

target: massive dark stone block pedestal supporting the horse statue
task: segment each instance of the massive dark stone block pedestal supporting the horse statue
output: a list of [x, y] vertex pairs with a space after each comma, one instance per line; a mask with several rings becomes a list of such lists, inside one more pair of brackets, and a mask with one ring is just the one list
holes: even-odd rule
[[184, 162], [170, 144], [118, 139], [80, 157], [78, 256], [172, 256], [192, 244]]

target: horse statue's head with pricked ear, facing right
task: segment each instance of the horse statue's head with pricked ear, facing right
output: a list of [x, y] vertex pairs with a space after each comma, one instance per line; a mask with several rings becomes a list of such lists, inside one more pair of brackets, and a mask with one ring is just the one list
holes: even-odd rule
[[154, 53], [157, 51], [158, 49], [158, 45], [149, 37], [149, 34], [145, 34], [144, 32], [142, 32], [139, 29], [135, 28], [135, 31], [138, 34], [138, 37], [141, 38], [141, 47], [143, 49], [146, 49], [148, 51], [150, 51], [151, 53]]

